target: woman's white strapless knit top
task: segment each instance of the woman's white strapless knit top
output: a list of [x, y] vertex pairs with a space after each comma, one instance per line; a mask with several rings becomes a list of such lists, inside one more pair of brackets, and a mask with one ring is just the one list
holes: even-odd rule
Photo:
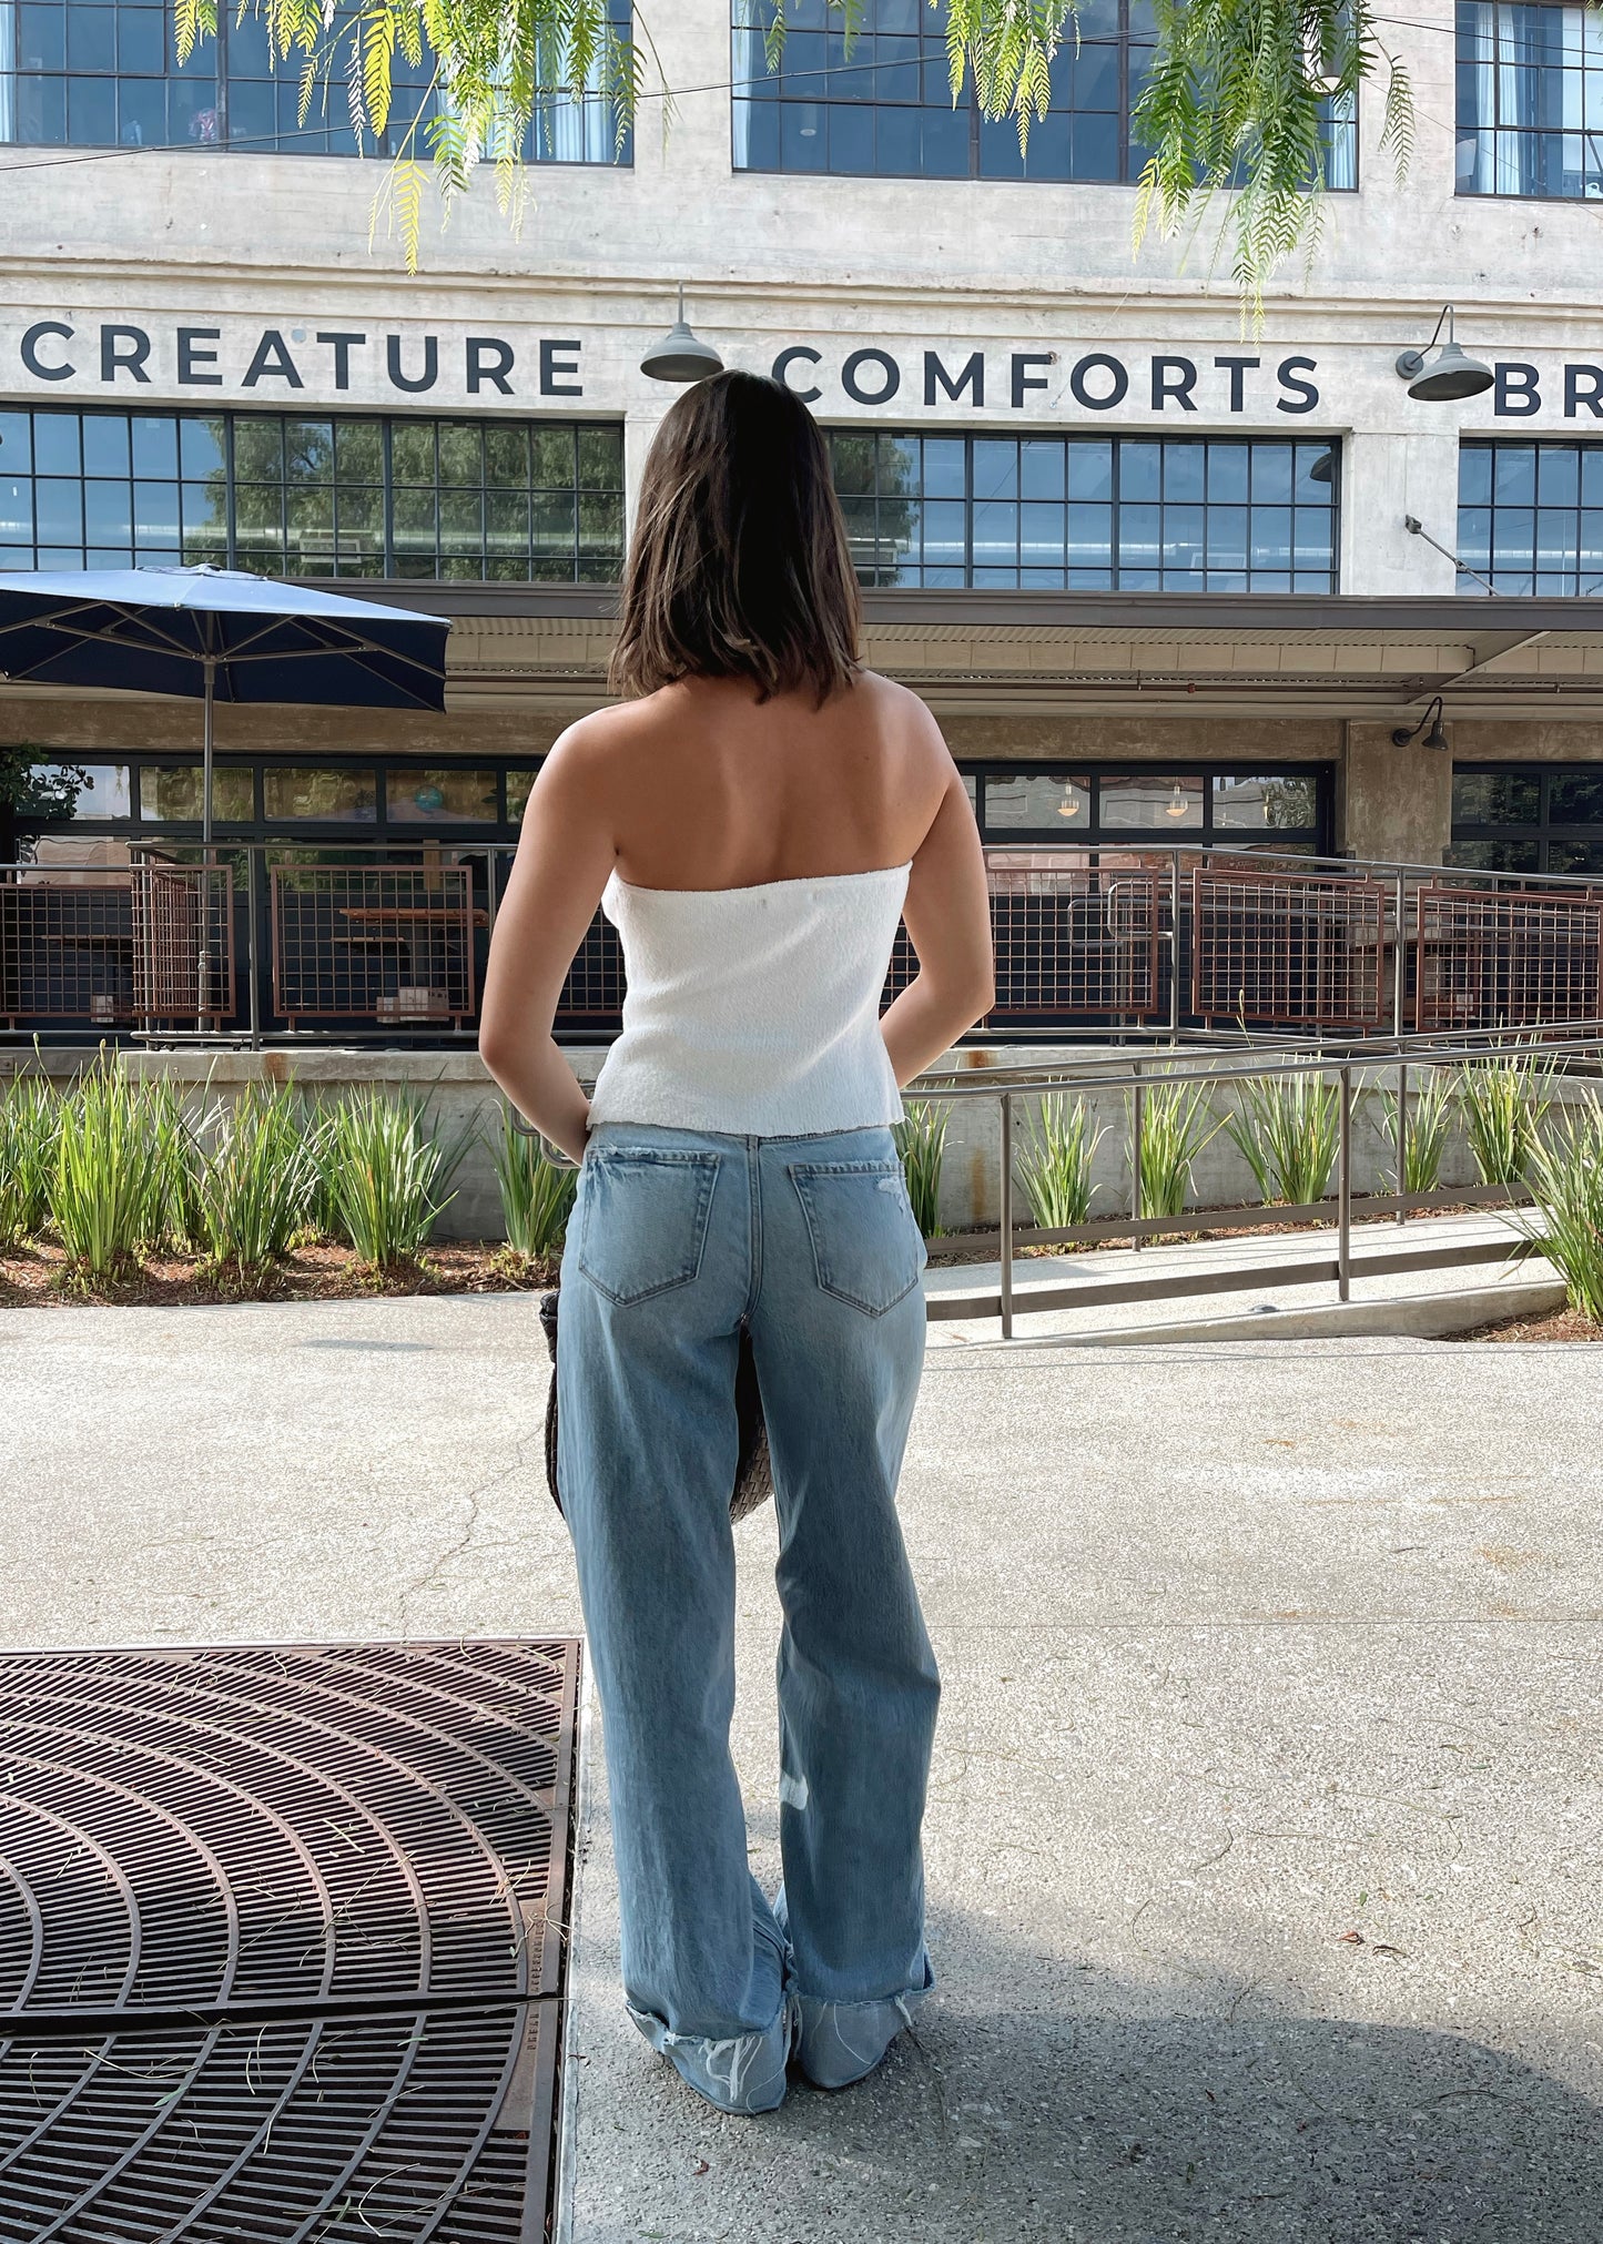
[[788, 1138], [900, 1122], [880, 994], [909, 864], [754, 889], [635, 889], [602, 911], [624, 947], [624, 1028], [593, 1122]]

